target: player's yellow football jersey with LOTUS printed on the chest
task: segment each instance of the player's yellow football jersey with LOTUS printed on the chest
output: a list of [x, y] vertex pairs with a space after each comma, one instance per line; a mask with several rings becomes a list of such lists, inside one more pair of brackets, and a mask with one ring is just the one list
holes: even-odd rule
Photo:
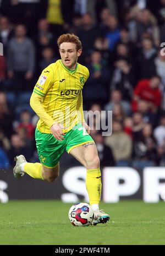
[[[78, 110], [83, 109], [82, 89], [88, 77], [89, 70], [85, 66], [77, 63], [75, 70], [70, 70], [59, 59], [43, 70], [35, 85], [33, 92], [42, 96], [43, 109], [54, 122], [63, 124], [64, 133], [82, 118]], [[51, 133], [42, 119], [37, 128], [40, 132]]]

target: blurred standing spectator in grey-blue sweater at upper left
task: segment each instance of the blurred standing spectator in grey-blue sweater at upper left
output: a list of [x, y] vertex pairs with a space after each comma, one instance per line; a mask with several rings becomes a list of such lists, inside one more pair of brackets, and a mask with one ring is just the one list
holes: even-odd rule
[[13, 79], [15, 91], [31, 89], [30, 82], [34, 69], [34, 44], [26, 37], [25, 26], [18, 25], [15, 28], [15, 37], [10, 40], [8, 48], [8, 76]]

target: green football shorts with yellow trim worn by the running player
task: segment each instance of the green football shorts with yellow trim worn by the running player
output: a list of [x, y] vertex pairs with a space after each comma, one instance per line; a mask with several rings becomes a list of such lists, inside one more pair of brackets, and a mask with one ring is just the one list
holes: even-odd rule
[[86, 132], [81, 123], [76, 124], [73, 129], [63, 135], [64, 140], [59, 141], [54, 138], [53, 134], [41, 133], [37, 128], [35, 130], [36, 147], [40, 162], [48, 168], [55, 167], [62, 154], [76, 146], [83, 145], [87, 142], [94, 142], [92, 137]]

